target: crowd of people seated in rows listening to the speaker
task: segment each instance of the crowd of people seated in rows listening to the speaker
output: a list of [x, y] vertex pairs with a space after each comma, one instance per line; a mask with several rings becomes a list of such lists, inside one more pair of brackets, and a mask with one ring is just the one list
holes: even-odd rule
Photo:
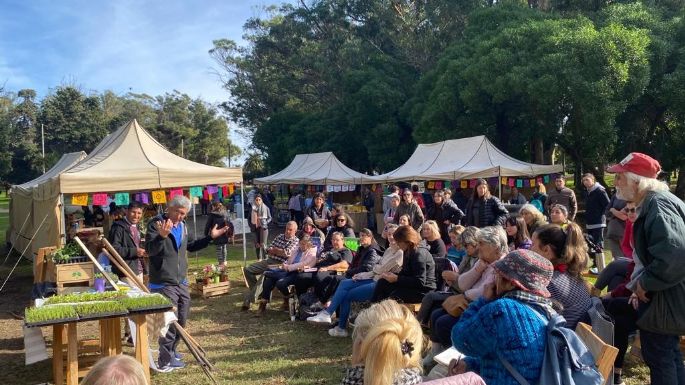
[[[363, 229], [355, 252], [344, 244], [345, 238], [355, 237], [349, 217], [333, 209], [323, 229], [316, 221], [323, 224], [325, 210], [316, 206], [306, 210], [318, 218], [304, 219], [297, 233], [299, 248], [290, 247], [283, 255], [277, 251], [282, 266], [264, 273], [260, 303], [269, 301], [274, 287], [284, 297], [289, 285], [298, 295], [311, 290], [319, 302], [313, 307], [322, 310], [307, 321], [330, 326], [333, 337], [349, 335], [354, 303], [373, 304], [354, 321], [353, 367], [343, 384], [394, 383], [367, 381], [373, 377], [369, 370], [386, 379], [406, 376], [406, 383], [516, 384], [497, 357], [537, 382], [545, 324], [535, 312], [558, 313], [566, 327], [575, 329], [578, 322], [591, 322], [591, 292], [608, 287], [603, 302], [616, 320], [620, 350], [613, 383], [620, 384], [628, 336], [637, 329], [633, 290], [643, 269], [632, 258], [635, 205], [628, 202], [620, 210], [627, 218], [620, 244], [625, 257], [612, 262], [591, 290], [584, 277], [590, 258], [583, 231], [569, 217], [569, 207], [554, 203], [543, 211], [544, 192], [537, 189], [531, 203], [518, 194], [519, 212], [509, 214], [484, 180], [476, 184], [463, 211], [449, 198], [449, 190], [435, 192], [432, 202], [421, 207], [414, 192], [393, 187], [383, 200], [384, 247], [373, 231]], [[318, 201], [323, 203], [323, 197], [315, 197]], [[322, 246], [312, 256], [311, 237], [321, 238], [323, 231]], [[401, 324], [393, 326], [392, 342], [380, 330], [390, 328], [381, 322], [389, 316]], [[427, 335], [431, 346], [422, 349], [420, 338], [402, 333]], [[379, 358], [380, 341], [395, 349], [382, 354], [392, 350], [395, 356]], [[439, 368], [434, 357], [451, 346], [466, 357]], [[419, 351], [426, 352], [423, 360]]]

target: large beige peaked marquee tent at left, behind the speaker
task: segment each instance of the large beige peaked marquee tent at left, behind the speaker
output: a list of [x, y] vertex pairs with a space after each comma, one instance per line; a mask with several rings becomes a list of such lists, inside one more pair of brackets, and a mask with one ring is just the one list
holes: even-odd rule
[[[242, 182], [241, 168], [207, 166], [177, 156], [157, 142], [136, 120], [108, 135], [79, 162], [62, 169], [58, 169], [58, 165], [34, 181], [12, 188], [12, 201], [14, 195], [27, 195], [27, 191], [31, 191], [33, 197], [30, 205], [11, 203], [16, 214], [11, 216], [10, 228], [17, 233], [8, 239], [16, 241], [15, 247], [19, 250], [23, 250], [22, 244], [28, 243], [45, 215], [48, 218], [43, 229], [49, 228], [50, 232], [40, 239], [37, 237], [31, 250], [35, 253], [40, 247], [59, 244], [59, 237], [64, 234], [62, 213], [59, 213], [64, 194], [134, 192]], [[22, 221], [15, 217], [25, 217], [29, 213], [32, 213], [31, 225], [27, 223], [18, 233]]]

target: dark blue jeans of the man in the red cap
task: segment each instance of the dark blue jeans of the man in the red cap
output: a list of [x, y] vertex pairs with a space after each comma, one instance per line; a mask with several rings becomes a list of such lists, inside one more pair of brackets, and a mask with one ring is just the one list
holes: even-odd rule
[[642, 358], [649, 366], [652, 385], [685, 385], [680, 336], [640, 330]]

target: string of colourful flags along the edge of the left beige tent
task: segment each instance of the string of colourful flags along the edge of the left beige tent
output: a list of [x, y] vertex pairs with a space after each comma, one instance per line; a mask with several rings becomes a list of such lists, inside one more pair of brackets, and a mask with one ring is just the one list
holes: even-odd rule
[[209, 186], [194, 186], [186, 188], [172, 188], [160, 189], [152, 191], [138, 191], [138, 192], [117, 192], [117, 193], [83, 193], [72, 194], [71, 204], [74, 206], [87, 206], [89, 201], [94, 206], [106, 206], [110, 202], [114, 202], [117, 206], [127, 206], [131, 200], [138, 201], [142, 204], [163, 204], [167, 203], [177, 195], [185, 195], [189, 197], [194, 203], [199, 203], [200, 198], [206, 200], [222, 199], [228, 197], [235, 192], [236, 184], [229, 183], [226, 185], [209, 185]]

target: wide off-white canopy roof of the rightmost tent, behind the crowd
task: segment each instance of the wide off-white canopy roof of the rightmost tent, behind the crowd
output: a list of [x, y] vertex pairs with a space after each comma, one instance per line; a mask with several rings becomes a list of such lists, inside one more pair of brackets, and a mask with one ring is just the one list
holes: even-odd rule
[[481, 135], [419, 144], [402, 166], [386, 174], [368, 178], [376, 183], [389, 183], [501, 176], [532, 177], [562, 171], [562, 165], [540, 165], [514, 159]]

